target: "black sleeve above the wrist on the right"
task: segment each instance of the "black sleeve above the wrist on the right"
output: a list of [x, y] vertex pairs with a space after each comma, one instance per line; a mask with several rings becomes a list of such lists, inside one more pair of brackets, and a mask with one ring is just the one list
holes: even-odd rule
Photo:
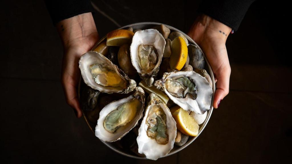
[[237, 31], [249, 6], [255, 0], [203, 0], [198, 13], [204, 13]]

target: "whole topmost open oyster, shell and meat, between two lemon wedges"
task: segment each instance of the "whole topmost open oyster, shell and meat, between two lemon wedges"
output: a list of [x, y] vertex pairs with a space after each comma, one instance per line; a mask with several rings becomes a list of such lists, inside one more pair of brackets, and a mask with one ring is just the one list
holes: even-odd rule
[[156, 29], [137, 31], [130, 46], [131, 61], [140, 77], [152, 86], [159, 71], [166, 41]]

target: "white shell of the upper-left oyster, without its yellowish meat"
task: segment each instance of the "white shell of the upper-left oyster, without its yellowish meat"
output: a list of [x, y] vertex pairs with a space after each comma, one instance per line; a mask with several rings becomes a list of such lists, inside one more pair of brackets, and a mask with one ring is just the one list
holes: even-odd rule
[[[89, 66], [91, 64], [107, 64], [109, 68], [116, 71], [117, 74], [127, 83], [126, 88], [115, 88], [102, 86], [96, 83], [92, 77], [91, 70]], [[93, 89], [99, 90], [100, 92], [105, 93], [129, 93], [133, 91], [136, 87], [136, 82], [132, 79], [129, 79], [128, 76], [117, 67], [117, 65], [113, 64], [109, 59], [107, 59], [104, 55], [97, 53], [95, 51], [88, 51], [83, 54], [79, 60], [79, 68], [81, 71], [82, 78], [86, 85], [90, 86]]]

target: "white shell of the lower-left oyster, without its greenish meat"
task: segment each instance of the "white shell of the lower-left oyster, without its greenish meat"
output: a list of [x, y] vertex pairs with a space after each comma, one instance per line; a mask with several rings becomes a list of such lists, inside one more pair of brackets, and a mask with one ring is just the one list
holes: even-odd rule
[[[142, 106], [137, 112], [134, 119], [130, 121], [128, 124], [126, 124], [125, 126], [120, 127], [116, 132], [114, 133], [108, 132], [103, 126], [103, 122], [106, 116], [110, 112], [116, 110], [117, 107], [124, 104], [125, 102], [132, 100], [133, 98], [138, 99], [142, 103]], [[145, 106], [145, 93], [141, 87], [136, 87], [136, 92], [133, 95], [107, 104], [99, 113], [97, 125], [95, 126], [95, 136], [105, 142], [114, 142], [121, 139], [122, 137], [124, 137], [124, 135], [126, 135], [132, 128], [134, 128], [138, 124], [138, 121], [143, 116], [144, 106]]]

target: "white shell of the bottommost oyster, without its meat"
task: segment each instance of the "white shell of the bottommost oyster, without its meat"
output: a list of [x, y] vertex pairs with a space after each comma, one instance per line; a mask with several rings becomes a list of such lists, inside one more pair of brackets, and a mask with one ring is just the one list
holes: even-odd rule
[[[162, 102], [162, 100], [157, 95], [151, 93], [147, 101], [148, 102], [145, 115], [138, 130], [139, 133], [137, 137], [138, 152], [141, 154], [142, 153], [145, 154], [146, 158], [148, 159], [157, 160], [160, 157], [166, 156], [171, 151], [171, 149], [173, 149], [173, 144], [175, 142], [177, 130], [176, 122], [172, 117], [168, 107]], [[163, 109], [164, 113], [166, 114], [166, 132], [168, 134], [167, 144], [158, 144], [155, 139], [151, 139], [150, 137], [147, 136], [148, 126], [146, 124], [146, 118], [148, 116], [148, 112], [152, 104], [159, 104]]]

